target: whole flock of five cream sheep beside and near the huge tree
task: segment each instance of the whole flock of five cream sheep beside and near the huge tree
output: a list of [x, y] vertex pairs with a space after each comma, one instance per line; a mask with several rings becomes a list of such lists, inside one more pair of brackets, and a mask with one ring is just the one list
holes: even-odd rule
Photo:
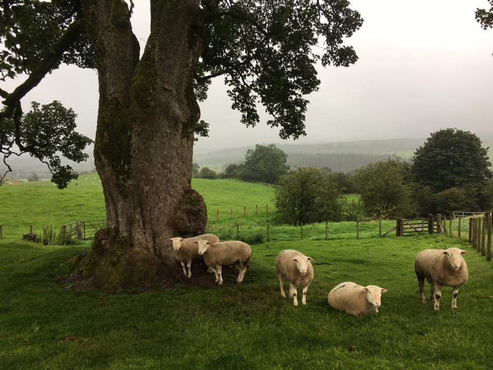
[[[216, 283], [219, 285], [223, 283], [223, 265], [236, 265], [239, 270], [236, 282], [243, 281], [252, 255], [252, 249], [248, 244], [239, 241], [220, 242], [214, 234], [203, 234], [186, 239], [174, 237], [169, 240], [173, 242], [175, 258], [181, 263], [183, 274], [188, 278], [192, 277], [192, 260], [202, 255], [208, 267], [207, 271], [214, 272]], [[414, 271], [418, 278], [422, 303], [426, 303], [424, 293], [426, 279], [430, 283], [430, 299], [434, 301], [435, 310], [440, 310], [442, 286], [453, 287], [452, 309], [457, 308], [459, 288], [468, 279], [467, 264], [463, 254], [467, 252], [459, 248], [426, 249], [418, 253]], [[307, 290], [313, 280], [313, 266], [310, 261], [312, 261], [311, 257], [291, 249], [281, 251], [276, 258], [275, 268], [281, 297], [286, 297], [283, 281], [286, 279], [290, 283], [289, 295], [293, 298], [295, 306], [298, 305], [298, 287], [302, 288], [301, 303], [307, 304]], [[353, 282], [344, 282], [329, 292], [328, 302], [331, 307], [352, 315], [378, 312], [382, 293], [386, 291], [387, 289], [375, 285], [363, 287]]]

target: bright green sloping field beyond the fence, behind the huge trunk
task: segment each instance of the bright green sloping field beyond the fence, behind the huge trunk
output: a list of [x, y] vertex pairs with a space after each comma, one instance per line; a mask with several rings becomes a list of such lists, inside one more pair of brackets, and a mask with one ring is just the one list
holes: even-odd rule
[[[4, 237], [20, 238], [33, 225], [35, 232], [44, 227], [61, 225], [75, 220], [94, 220], [106, 217], [101, 182], [97, 174], [82, 175], [67, 189], [58, 190], [48, 180], [7, 182], [0, 188], [0, 224]], [[274, 188], [268, 185], [235, 179], [192, 179], [192, 186], [205, 199], [211, 228], [239, 221], [251, 226], [265, 226], [268, 221], [279, 223], [274, 207]], [[358, 195], [348, 195], [357, 201]], [[258, 214], [256, 214], [258, 206]], [[269, 214], [266, 214], [268, 206]], [[247, 217], [244, 217], [246, 207]], [[219, 220], [217, 220], [219, 211]], [[231, 212], [233, 211], [233, 213]]]

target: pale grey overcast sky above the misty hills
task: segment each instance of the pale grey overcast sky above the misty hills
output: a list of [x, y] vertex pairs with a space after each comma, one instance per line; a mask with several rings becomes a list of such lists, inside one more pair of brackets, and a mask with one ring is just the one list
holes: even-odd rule
[[[143, 49], [149, 2], [135, 3], [132, 25]], [[294, 143], [425, 138], [445, 127], [492, 131], [493, 30], [484, 31], [474, 16], [476, 8], [487, 6], [486, 0], [353, 0], [365, 22], [346, 44], [354, 46], [359, 61], [349, 68], [317, 68], [321, 84], [308, 96], [308, 135]], [[2, 87], [9, 91], [16, 84]], [[24, 99], [24, 110], [31, 100], [55, 99], [72, 107], [78, 130], [94, 138], [96, 71], [62, 66]], [[220, 77], [200, 107], [210, 138], [199, 140], [198, 151], [293, 143], [267, 127], [265, 114], [257, 127], [242, 126]]]

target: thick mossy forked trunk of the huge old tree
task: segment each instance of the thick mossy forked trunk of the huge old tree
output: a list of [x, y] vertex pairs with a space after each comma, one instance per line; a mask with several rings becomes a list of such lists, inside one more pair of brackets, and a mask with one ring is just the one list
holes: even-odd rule
[[94, 159], [107, 215], [84, 258], [82, 285], [145, 288], [176, 265], [168, 238], [205, 232], [205, 205], [190, 187], [199, 1], [151, 1], [140, 60], [123, 0], [82, 3], [98, 68]]

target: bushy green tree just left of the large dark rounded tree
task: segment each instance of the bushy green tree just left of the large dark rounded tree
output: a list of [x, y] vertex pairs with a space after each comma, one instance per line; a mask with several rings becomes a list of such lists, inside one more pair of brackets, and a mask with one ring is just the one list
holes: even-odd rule
[[411, 191], [404, 183], [408, 164], [399, 157], [370, 163], [354, 172], [366, 210], [377, 218], [407, 217], [415, 213]]

